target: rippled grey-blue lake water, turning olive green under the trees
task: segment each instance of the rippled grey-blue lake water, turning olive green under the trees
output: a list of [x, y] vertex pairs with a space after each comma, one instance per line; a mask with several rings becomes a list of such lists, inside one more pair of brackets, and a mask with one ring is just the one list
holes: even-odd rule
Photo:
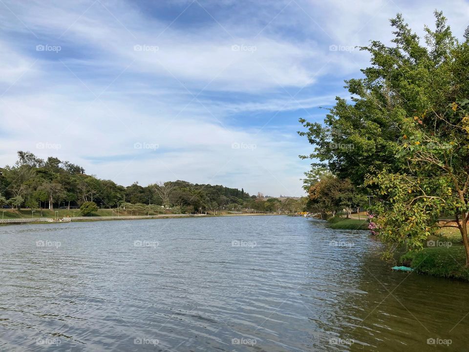
[[3, 226], [0, 351], [468, 351], [469, 284], [380, 248], [286, 216]]

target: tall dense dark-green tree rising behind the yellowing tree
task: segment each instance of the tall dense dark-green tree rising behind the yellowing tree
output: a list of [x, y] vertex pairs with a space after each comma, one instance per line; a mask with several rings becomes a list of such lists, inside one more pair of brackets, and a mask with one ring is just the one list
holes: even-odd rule
[[[462, 65], [468, 61], [467, 42], [455, 41], [441, 12], [435, 17], [436, 30], [426, 28], [428, 48], [400, 14], [391, 20], [395, 46], [371, 41], [360, 48], [371, 54], [372, 66], [362, 69], [364, 78], [346, 81], [350, 102], [337, 97], [324, 125], [299, 120], [306, 128], [299, 134], [316, 146], [303, 158], [319, 160], [314, 165], [327, 163], [334, 175], [357, 186], [371, 168], [407, 171], [405, 160], [395, 156], [405, 117], [430, 107], [440, 110], [456, 97], [466, 97], [468, 89]], [[459, 63], [453, 61], [458, 58]]]

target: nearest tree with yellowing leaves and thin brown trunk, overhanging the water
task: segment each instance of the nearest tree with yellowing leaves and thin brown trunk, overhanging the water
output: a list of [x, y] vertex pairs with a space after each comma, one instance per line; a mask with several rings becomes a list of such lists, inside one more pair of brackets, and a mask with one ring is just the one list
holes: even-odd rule
[[[387, 196], [388, 202], [377, 204], [375, 211], [379, 234], [390, 244], [388, 256], [404, 244], [420, 249], [430, 234], [448, 226], [459, 229], [469, 266], [468, 108], [465, 99], [447, 111], [432, 109], [417, 119], [408, 118], [398, 155], [408, 160], [410, 171], [368, 177], [367, 182], [377, 184], [380, 194]], [[442, 216], [450, 220], [441, 224]]]

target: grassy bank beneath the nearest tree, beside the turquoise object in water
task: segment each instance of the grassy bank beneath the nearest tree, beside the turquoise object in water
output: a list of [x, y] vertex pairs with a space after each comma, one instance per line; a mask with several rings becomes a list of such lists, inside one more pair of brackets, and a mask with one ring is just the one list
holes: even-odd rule
[[420, 274], [469, 281], [466, 253], [461, 245], [428, 247], [419, 252], [407, 252], [401, 262]]

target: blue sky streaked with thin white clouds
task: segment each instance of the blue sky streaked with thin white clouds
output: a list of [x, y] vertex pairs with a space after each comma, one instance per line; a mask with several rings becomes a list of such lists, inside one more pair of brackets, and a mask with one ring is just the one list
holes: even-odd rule
[[313, 146], [344, 80], [392, 39], [402, 13], [423, 37], [469, 2], [398, 0], [0, 0], [0, 165], [18, 150], [89, 175], [302, 196]]

